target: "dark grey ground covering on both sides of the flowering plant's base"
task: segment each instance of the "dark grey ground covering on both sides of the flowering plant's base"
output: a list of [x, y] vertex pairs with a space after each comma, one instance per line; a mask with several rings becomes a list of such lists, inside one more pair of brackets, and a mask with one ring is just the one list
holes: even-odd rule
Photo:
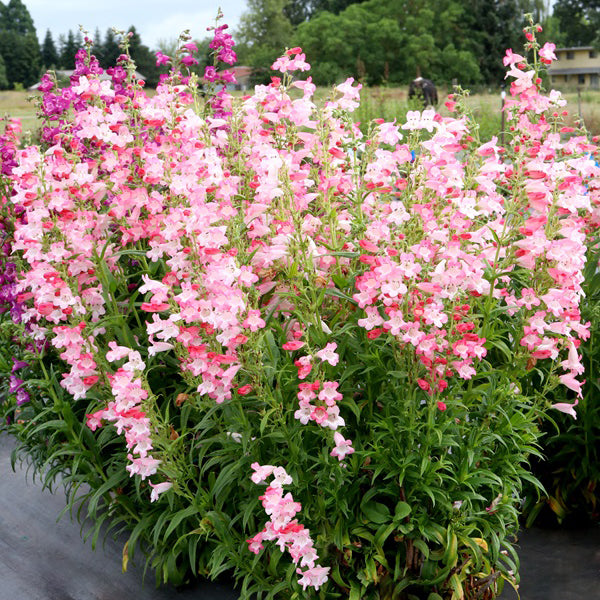
[[[56, 521], [61, 490], [42, 491], [10, 466], [12, 442], [0, 436], [0, 600], [236, 600], [225, 583], [177, 591], [154, 587], [142, 568], [121, 574], [122, 546], [93, 551], [79, 525]], [[521, 600], [600, 600], [600, 528], [526, 531], [521, 539]], [[516, 600], [511, 590], [502, 600]]]

